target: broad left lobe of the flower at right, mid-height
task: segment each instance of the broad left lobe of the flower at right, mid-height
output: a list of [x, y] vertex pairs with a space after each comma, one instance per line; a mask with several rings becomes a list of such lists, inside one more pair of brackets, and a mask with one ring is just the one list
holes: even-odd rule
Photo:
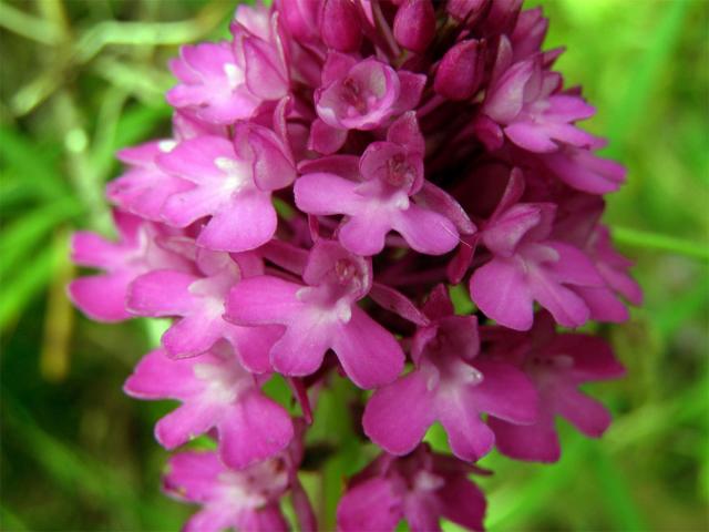
[[493, 258], [470, 279], [470, 296], [489, 318], [515, 330], [528, 330], [533, 299], [514, 259]]

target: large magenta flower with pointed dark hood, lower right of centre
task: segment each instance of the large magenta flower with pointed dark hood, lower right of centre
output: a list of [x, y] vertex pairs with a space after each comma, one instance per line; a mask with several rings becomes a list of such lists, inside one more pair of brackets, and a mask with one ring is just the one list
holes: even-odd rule
[[442, 286], [423, 310], [432, 324], [413, 338], [415, 369], [374, 391], [364, 410], [364, 432], [387, 451], [407, 454], [440, 421], [453, 453], [477, 460], [494, 442], [481, 412], [533, 423], [536, 393], [513, 366], [479, 357], [476, 318], [454, 316]]

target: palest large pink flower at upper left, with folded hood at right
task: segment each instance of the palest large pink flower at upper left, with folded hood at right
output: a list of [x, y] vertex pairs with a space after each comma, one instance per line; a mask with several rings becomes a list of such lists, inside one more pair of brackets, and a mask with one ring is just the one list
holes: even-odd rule
[[197, 244], [226, 252], [254, 249], [274, 236], [277, 218], [271, 192], [296, 177], [277, 136], [250, 124], [237, 129], [234, 144], [198, 136], [182, 142], [157, 162], [164, 172], [194, 185], [167, 198], [162, 208], [165, 222], [186, 227], [210, 215]]

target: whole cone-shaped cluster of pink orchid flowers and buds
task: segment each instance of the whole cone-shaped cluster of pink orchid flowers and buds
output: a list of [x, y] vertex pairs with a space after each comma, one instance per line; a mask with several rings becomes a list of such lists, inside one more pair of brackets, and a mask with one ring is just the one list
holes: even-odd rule
[[[173, 319], [125, 391], [182, 403], [155, 427], [166, 449], [217, 443], [169, 460], [165, 489], [202, 504], [186, 530], [286, 530], [287, 493], [318, 528], [297, 473], [338, 374], [373, 389], [361, 437], [382, 450], [349, 482], [342, 531], [480, 530], [473, 462], [557, 460], [557, 416], [607, 428], [578, 386], [624, 369], [557, 326], [640, 303], [599, 223], [625, 171], [577, 126], [594, 109], [521, 3], [242, 6], [228, 41], [172, 61], [173, 136], [120, 153], [120, 238], [74, 236], [103, 273], [70, 295], [97, 320]], [[474, 313], [455, 313], [458, 284]], [[301, 417], [263, 391], [275, 372]], [[422, 443], [436, 421], [452, 456]]]

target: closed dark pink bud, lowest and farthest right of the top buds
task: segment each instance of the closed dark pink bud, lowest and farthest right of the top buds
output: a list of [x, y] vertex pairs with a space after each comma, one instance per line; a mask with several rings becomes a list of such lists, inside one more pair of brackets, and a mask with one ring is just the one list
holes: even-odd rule
[[467, 100], [480, 86], [484, 68], [484, 44], [474, 39], [451, 48], [439, 64], [433, 88], [450, 100]]

